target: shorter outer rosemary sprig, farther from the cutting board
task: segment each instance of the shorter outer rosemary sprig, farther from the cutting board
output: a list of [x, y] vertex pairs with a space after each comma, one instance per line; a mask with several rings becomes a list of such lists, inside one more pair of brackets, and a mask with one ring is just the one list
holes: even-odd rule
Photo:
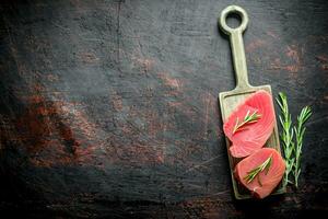
[[296, 147], [295, 147], [295, 162], [294, 162], [294, 182], [296, 188], [298, 187], [298, 176], [301, 173], [301, 154], [303, 147], [303, 137], [305, 132], [304, 124], [311, 117], [312, 111], [309, 106], [302, 108], [301, 114], [297, 116], [297, 126], [294, 127], [295, 137], [296, 137]]

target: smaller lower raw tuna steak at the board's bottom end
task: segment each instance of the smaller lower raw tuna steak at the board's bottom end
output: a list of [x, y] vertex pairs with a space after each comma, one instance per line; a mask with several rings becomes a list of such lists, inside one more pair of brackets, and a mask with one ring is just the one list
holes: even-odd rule
[[[262, 169], [257, 169], [259, 166]], [[262, 148], [236, 165], [235, 176], [255, 197], [265, 198], [277, 187], [284, 171], [285, 163], [280, 153], [272, 148]]]

